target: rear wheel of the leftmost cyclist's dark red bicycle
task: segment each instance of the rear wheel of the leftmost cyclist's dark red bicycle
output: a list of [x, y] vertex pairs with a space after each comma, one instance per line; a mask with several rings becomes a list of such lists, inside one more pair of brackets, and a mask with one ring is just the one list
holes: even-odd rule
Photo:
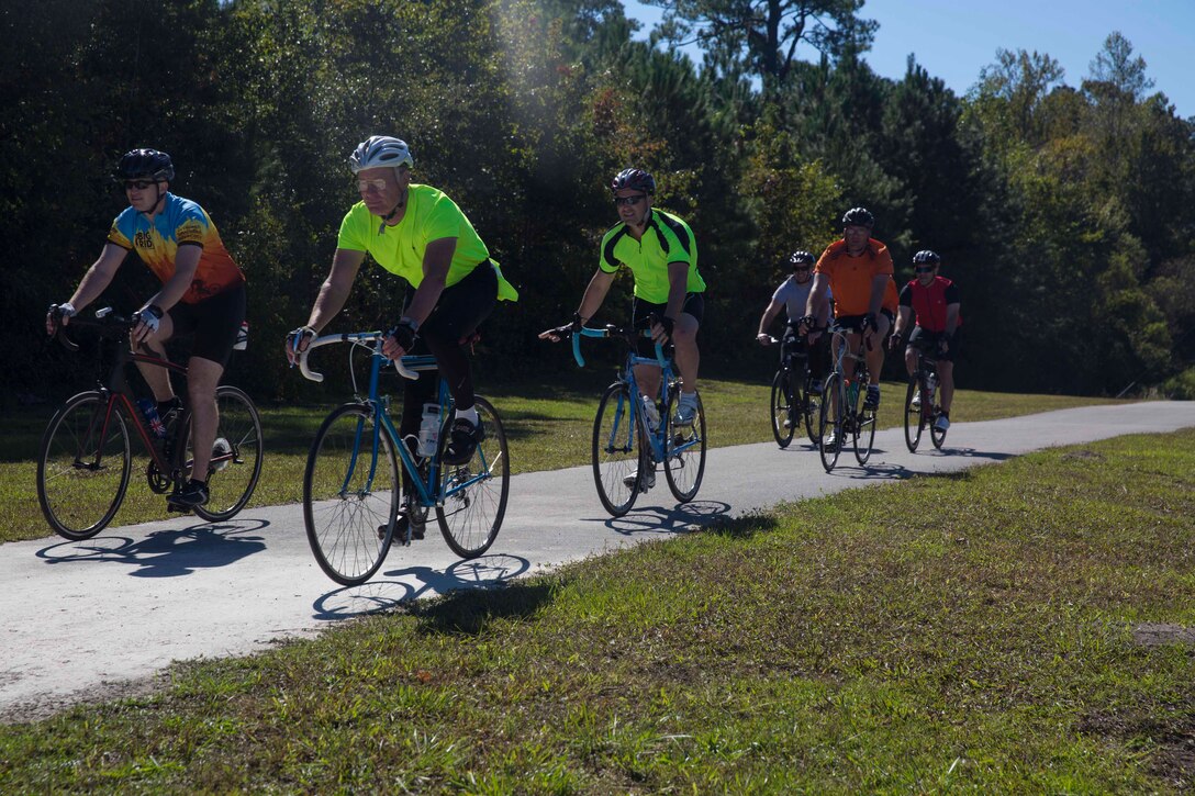
[[[208, 465], [208, 502], [195, 513], [209, 522], [231, 519], [252, 497], [262, 477], [262, 418], [244, 391], [216, 387], [220, 424]], [[190, 420], [184, 418], [190, 427]]]

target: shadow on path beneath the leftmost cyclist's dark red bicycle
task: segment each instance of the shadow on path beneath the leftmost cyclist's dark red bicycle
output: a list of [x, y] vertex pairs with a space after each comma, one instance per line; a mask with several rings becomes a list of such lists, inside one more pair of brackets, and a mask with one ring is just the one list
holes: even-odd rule
[[256, 534], [266, 520], [237, 519], [203, 522], [189, 528], [154, 531], [143, 539], [98, 535], [82, 541], [62, 541], [37, 551], [48, 564], [97, 562], [135, 568], [133, 577], [177, 577], [198, 569], [226, 567], [265, 550]]

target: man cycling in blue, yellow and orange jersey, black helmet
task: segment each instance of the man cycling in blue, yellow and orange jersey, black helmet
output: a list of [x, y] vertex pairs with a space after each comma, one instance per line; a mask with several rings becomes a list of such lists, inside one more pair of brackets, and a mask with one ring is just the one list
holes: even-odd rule
[[[137, 311], [133, 343], [165, 359], [163, 347], [174, 335], [194, 333], [186, 363], [186, 392], [191, 410], [194, 463], [191, 478], [167, 496], [167, 504], [185, 510], [208, 502], [208, 465], [219, 424], [216, 386], [228, 365], [245, 319], [245, 275], [233, 262], [207, 212], [170, 192], [174, 165], [158, 149], [133, 149], [116, 169], [129, 207], [108, 233], [108, 244], [66, 304], [50, 307], [45, 331], [57, 330], [57, 319], [94, 301], [111, 283], [129, 251], [136, 252], [161, 280], [161, 289]], [[137, 363], [164, 417], [178, 399], [166, 368]]]

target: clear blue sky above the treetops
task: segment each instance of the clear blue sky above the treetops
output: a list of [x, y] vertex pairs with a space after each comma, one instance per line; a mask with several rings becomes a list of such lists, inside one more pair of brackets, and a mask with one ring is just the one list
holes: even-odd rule
[[[645, 38], [660, 10], [623, 1], [627, 16], [644, 23]], [[958, 94], [1001, 47], [1048, 54], [1066, 72], [1065, 82], [1078, 87], [1119, 30], [1145, 59], [1153, 91], [1164, 92], [1179, 116], [1195, 116], [1195, 0], [868, 0], [860, 16], [880, 23], [866, 55], [876, 73], [899, 80], [912, 53]], [[809, 48], [797, 53], [813, 59]]]

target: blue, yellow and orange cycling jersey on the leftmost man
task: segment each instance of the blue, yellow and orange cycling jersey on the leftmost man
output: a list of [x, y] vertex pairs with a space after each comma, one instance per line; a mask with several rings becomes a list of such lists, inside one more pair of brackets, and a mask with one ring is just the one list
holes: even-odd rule
[[200, 246], [203, 252], [191, 286], [183, 294], [185, 304], [198, 304], [245, 281], [207, 212], [191, 200], [170, 192], [153, 219], [135, 208], [125, 208], [112, 221], [108, 243], [135, 251], [163, 283], [174, 276], [178, 247]]

